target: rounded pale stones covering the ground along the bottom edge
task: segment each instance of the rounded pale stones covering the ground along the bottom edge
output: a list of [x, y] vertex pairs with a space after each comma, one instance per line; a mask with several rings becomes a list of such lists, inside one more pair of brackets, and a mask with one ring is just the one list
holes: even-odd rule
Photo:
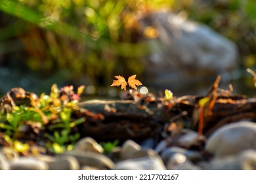
[[[193, 131], [186, 131], [179, 141], [188, 146], [196, 137]], [[102, 153], [100, 144], [85, 137], [77, 142], [74, 150], [57, 156], [19, 157], [11, 149], [2, 148], [0, 169], [256, 169], [255, 137], [256, 124], [253, 122], [224, 125], [207, 139], [203, 148], [213, 155], [212, 158], [198, 150], [170, 146], [171, 137], [169, 142], [163, 140], [155, 148], [152, 139], [141, 144], [127, 140], [107, 156]]]

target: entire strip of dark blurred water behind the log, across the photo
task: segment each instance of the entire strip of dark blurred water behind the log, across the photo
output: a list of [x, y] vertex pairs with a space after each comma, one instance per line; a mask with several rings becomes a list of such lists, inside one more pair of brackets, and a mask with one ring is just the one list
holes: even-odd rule
[[[255, 69], [256, 70], [256, 69]], [[249, 97], [255, 96], [256, 88], [253, 83], [253, 76], [246, 72], [245, 68], [237, 69], [235, 71], [224, 73], [221, 75], [221, 82], [219, 88], [228, 90], [229, 84], [232, 84], [233, 93], [247, 95]], [[215, 76], [190, 76], [188, 78], [179, 78], [179, 76], [168, 75], [161, 78], [139, 78], [143, 86], [138, 87], [141, 93], [155, 93], [156, 95], [163, 95], [164, 90], [168, 89], [173, 92], [175, 96], [183, 95], [206, 95], [209, 88], [213, 85], [217, 75]], [[43, 82], [39, 78], [24, 73], [17, 73], [7, 68], [0, 68], [0, 92], [5, 95], [11, 88], [22, 87], [27, 91], [41, 93], [48, 93], [51, 90], [51, 85], [58, 84], [58, 87], [72, 85], [70, 82], [60, 82], [56, 80], [49, 80], [48, 85], [40, 86]], [[75, 85], [81, 85], [75, 84]], [[110, 83], [111, 84], [111, 83]], [[94, 86], [92, 84], [85, 85], [84, 96], [87, 99], [120, 99], [123, 91], [120, 87], [104, 87]], [[38, 89], [40, 88], [40, 90]], [[127, 90], [129, 90], [127, 86]]]

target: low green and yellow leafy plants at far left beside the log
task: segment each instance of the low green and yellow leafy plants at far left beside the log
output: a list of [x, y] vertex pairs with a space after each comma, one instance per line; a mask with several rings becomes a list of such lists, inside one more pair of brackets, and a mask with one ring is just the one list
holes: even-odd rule
[[[16, 105], [14, 99], [18, 94], [12, 93], [12, 98], [7, 93], [7, 97], [1, 101], [0, 113], [0, 129], [5, 134], [5, 141], [22, 153], [31, 150], [28, 142], [36, 144], [34, 136], [41, 137], [45, 141], [45, 148], [51, 153], [72, 149], [80, 138], [75, 127], [85, 122], [85, 118], [72, 116], [79, 108], [77, 104], [84, 88], [80, 86], [75, 93], [73, 86], [59, 90], [53, 84], [49, 95], [42, 93], [37, 97], [35, 93], [26, 93], [30, 103], [21, 105]], [[26, 137], [28, 134], [32, 136], [29, 139]]]

